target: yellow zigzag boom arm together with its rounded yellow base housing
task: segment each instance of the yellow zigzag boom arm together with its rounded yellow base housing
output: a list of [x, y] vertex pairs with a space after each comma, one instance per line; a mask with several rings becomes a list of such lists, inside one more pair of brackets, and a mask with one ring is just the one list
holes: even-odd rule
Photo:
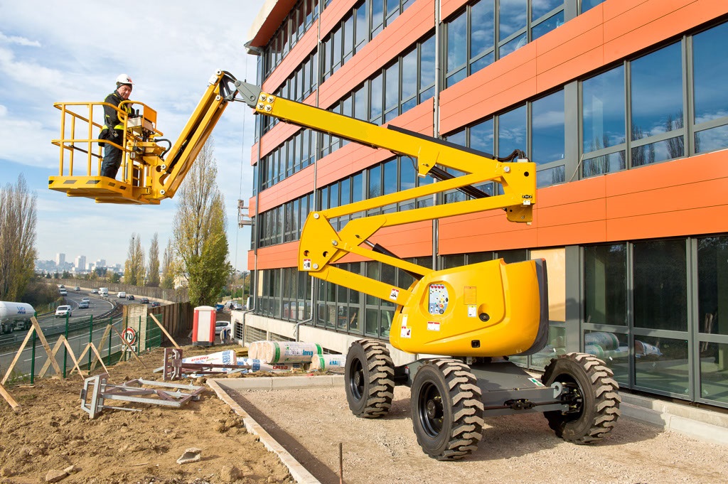
[[[243, 82], [235, 82], [235, 86], [242, 100], [258, 113], [409, 156], [416, 162], [419, 175], [429, 173], [441, 180], [310, 213], [298, 247], [299, 270], [397, 304], [394, 314], [384, 312], [384, 317], [392, 317], [389, 341], [405, 352], [494, 357], [532, 354], [543, 348], [548, 333], [544, 261], [506, 264], [498, 260], [433, 271], [403, 261], [369, 241], [376, 231], [384, 227], [483, 210], [505, 209], [508, 220], [529, 223], [536, 202], [534, 163], [525, 160], [505, 163], [488, 154], [415, 132], [384, 128], [277, 98]], [[459, 170], [465, 175], [448, 176], [436, 165]], [[503, 194], [488, 197], [473, 188], [488, 180], [500, 183]], [[472, 195], [472, 199], [365, 215], [379, 207], [454, 189]], [[357, 215], [359, 218], [356, 218]], [[343, 216], [354, 218], [347, 221], [341, 231], [336, 231], [331, 221]], [[349, 253], [408, 271], [416, 277], [416, 281], [408, 288], [395, 287], [333, 266]]]

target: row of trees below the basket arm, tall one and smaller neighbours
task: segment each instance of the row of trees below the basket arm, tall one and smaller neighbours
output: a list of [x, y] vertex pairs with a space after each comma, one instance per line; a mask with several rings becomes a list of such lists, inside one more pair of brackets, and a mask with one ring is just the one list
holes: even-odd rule
[[173, 237], [162, 257], [161, 279], [158, 235], [151, 239], [149, 263], [145, 264], [141, 236], [132, 233], [124, 263], [126, 284], [171, 289], [179, 276], [186, 282], [194, 306], [218, 301], [232, 266], [228, 262], [227, 219], [217, 175], [213, 143], [208, 141], [177, 193]]

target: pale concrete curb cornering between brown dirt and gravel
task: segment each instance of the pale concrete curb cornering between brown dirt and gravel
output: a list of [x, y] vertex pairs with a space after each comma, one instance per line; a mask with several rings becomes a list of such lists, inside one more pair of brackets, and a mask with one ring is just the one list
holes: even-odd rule
[[[298, 377], [288, 377], [288, 378], [298, 378]], [[242, 421], [245, 424], [245, 429], [248, 430], [253, 435], [257, 435], [261, 443], [266, 446], [266, 449], [269, 451], [275, 453], [278, 456], [278, 459], [285, 465], [285, 467], [288, 467], [288, 472], [290, 472], [291, 477], [293, 477], [294, 480], [296, 480], [296, 483], [299, 484], [321, 484], [319, 480], [316, 479], [308, 470], [306, 470], [305, 467], [301, 465], [300, 462], [296, 461], [296, 459], [293, 458], [293, 456], [288, 453], [288, 451], [283, 448], [282, 445], [277, 443], [277, 441], [271, 437], [271, 435], [266, 432], [266, 430], [261, 427], [258, 422], [253, 420], [253, 417], [248, 415], [248, 412], [246, 412], [237, 402], [232, 400], [232, 398], [225, 392], [224, 389], [221, 388], [220, 384], [218, 384], [218, 381], [221, 383], [227, 384], [230, 381], [255, 381], [255, 380], [288, 380], [288, 378], [244, 378], [244, 379], [237, 379], [233, 380], [231, 379], [210, 379], [207, 380], [207, 384], [210, 386], [211, 389], [215, 391], [215, 394], [217, 394], [218, 398], [225, 402], [227, 405], [229, 405], [230, 408], [232, 408], [237, 415], [242, 417]], [[303, 378], [320, 378], [320, 377], [303, 377]], [[272, 388], [272, 384], [271, 388]], [[282, 388], [282, 386], [277, 386], [278, 388]], [[241, 387], [242, 388], [242, 387]], [[295, 387], [290, 387], [295, 388]], [[252, 389], [266, 389], [263, 387], [253, 387]]]

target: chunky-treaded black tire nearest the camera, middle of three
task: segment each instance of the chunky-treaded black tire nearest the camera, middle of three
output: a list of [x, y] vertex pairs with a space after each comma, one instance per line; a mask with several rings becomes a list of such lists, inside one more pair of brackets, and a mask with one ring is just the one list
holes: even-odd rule
[[412, 426], [432, 459], [455, 461], [475, 451], [483, 437], [483, 402], [470, 368], [438, 358], [419, 367], [412, 384]]

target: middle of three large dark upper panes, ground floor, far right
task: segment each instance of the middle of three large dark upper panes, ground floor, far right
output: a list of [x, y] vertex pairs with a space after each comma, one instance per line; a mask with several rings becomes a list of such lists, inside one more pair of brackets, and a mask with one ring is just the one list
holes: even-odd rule
[[636, 328], [687, 331], [684, 240], [636, 242], [633, 278]]

